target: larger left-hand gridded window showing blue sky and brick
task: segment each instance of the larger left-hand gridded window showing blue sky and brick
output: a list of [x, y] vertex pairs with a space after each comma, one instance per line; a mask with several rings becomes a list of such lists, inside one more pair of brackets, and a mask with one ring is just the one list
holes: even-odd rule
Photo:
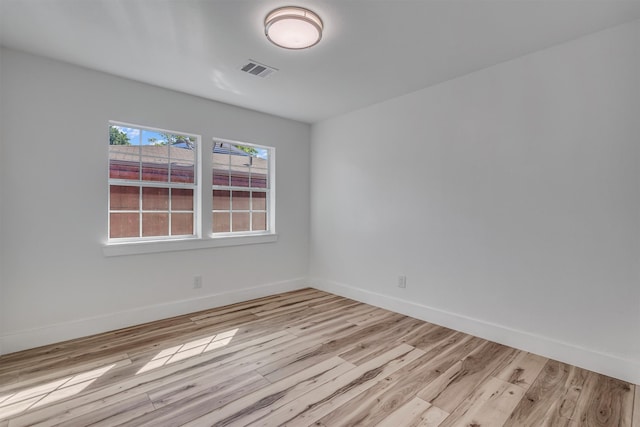
[[109, 239], [196, 236], [198, 137], [109, 126]]

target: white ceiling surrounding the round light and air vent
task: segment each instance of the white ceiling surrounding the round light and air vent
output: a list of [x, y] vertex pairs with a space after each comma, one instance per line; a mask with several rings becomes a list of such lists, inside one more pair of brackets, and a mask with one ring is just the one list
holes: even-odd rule
[[[290, 4], [322, 17], [320, 44], [267, 41]], [[640, 0], [0, 0], [0, 42], [313, 123], [638, 18]]]

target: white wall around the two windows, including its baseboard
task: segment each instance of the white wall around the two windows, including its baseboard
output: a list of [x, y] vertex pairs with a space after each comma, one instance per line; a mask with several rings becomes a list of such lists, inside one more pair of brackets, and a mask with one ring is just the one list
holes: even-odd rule
[[[309, 125], [6, 49], [2, 79], [5, 352], [303, 286]], [[105, 258], [108, 120], [275, 146], [278, 241]]]

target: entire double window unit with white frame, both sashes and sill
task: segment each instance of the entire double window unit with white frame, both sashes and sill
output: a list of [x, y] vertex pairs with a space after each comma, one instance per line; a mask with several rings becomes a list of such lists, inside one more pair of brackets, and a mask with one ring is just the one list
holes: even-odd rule
[[274, 156], [273, 147], [110, 122], [103, 253], [276, 241]]

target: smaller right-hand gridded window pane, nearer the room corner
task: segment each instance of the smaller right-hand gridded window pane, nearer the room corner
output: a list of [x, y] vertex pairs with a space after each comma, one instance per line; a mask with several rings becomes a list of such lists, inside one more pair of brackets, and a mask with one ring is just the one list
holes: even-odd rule
[[214, 235], [265, 233], [270, 227], [273, 148], [213, 141]]

